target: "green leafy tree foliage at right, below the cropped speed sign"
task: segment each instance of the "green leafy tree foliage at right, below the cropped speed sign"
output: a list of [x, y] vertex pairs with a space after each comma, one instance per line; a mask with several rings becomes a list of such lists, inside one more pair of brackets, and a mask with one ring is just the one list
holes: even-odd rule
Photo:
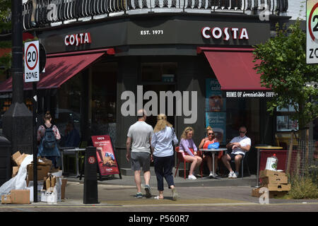
[[318, 66], [306, 64], [306, 34], [298, 20], [288, 29], [277, 25], [276, 32], [276, 37], [254, 49], [254, 69], [261, 73], [261, 85], [276, 93], [267, 103], [268, 111], [292, 105], [292, 117], [302, 129], [318, 116], [318, 88], [312, 85], [318, 81]]

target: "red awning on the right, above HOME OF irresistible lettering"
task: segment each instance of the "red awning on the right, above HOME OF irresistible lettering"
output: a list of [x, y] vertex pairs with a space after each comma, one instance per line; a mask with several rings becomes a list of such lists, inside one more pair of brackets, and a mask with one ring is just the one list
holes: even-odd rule
[[198, 47], [218, 78], [221, 90], [270, 90], [261, 87], [251, 48]]

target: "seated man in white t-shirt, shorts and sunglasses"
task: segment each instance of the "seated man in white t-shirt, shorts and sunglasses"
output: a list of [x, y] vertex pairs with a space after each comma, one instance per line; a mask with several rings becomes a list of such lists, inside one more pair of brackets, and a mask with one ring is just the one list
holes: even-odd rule
[[[232, 153], [223, 155], [222, 161], [225, 167], [228, 168], [230, 173], [228, 178], [237, 178], [238, 172], [240, 169], [241, 160], [244, 157], [245, 153], [251, 148], [251, 139], [245, 136], [247, 129], [245, 126], [241, 126], [239, 129], [240, 136], [232, 138], [232, 141], [226, 145], [226, 148], [232, 148]], [[235, 161], [235, 172], [233, 172], [230, 165], [230, 161]], [[242, 172], [243, 173], [243, 172]]]

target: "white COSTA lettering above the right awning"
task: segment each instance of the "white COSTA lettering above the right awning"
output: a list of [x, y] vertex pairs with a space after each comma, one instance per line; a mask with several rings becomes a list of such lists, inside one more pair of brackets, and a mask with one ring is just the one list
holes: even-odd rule
[[201, 29], [201, 34], [204, 38], [209, 39], [213, 37], [218, 40], [223, 37], [223, 40], [230, 40], [230, 34], [232, 35], [233, 40], [248, 40], [249, 35], [246, 28], [210, 28], [204, 27]]

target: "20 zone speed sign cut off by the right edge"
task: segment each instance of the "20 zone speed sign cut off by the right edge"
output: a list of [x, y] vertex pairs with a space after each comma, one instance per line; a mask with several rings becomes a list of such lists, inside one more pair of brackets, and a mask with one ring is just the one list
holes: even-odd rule
[[306, 20], [306, 63], [318, 64], [318, 0], [307, 0]]

